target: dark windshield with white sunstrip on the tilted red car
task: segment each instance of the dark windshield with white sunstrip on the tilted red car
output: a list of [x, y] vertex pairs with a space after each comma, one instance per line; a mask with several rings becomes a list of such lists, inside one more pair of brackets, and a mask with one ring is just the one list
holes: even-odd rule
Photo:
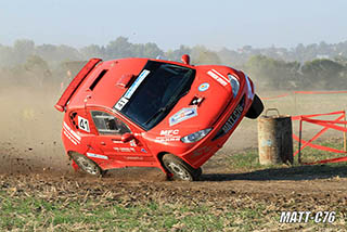
[[192, 68], [149, 61], [114, 107], [150, 130], [189, 92], [194, 77]]

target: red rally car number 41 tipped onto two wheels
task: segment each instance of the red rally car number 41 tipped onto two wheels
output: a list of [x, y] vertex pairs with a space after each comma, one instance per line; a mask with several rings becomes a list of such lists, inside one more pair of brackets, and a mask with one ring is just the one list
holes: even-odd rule
[[243, 72], [189, 61], [90, 60], [55, 104], [73, 167], [95, 176], [157, 167], [196, 180], [241, 119], [264, 106]]

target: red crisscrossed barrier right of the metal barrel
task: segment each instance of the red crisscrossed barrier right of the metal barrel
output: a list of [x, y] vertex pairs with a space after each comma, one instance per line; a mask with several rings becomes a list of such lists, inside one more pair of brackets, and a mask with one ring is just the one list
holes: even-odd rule
[[[319, 117], [319, 116], [326, 116], [326, 115], [337, 115], [337, 114], [342, 114], [340, 116], [338, 116], [335, 120], [319, 120], [319, 119], [311, 119], [311, 117]], [[327, 147], [327, 146], [322, 146], [322, 145], [317, 145], [317, 144], [312, 144], [311, 142], [313, 142], [314, 140], [317, 140], [320, 136], [322, 136], [326, 130], [329, 129], [335, 129], [335, 130], [339, 130], [339, 131], [344, 131], [347, 132], [347, 128], [346, 127], [340, 127], [340, 126], [336, 126], [336, 124], [339, 125], [347, 125], [347, 121], [342, 121], [342, 119], [345, 119], [346, 117], [346, 113], [344, 111], [340, 112], [332, 112], [332, 113], [326, 113], [326, 114], [316, 114], [316, 115], [299, 115], [299, 116], [293, 116], [292, 120], [300, 120], [301, 121], [307, 121], [310, 124], [316, 124], [319, 126], [324, 127], [322, 130], [320, 130], [318, 133], [316, 133], [312, 139], [310, 139], [309, 141], [305, 141], [305, 140], [300, 140], [297, 136], [293, 134], [293, 139], [300, 142], [303, 144], [303, 146], [300, 146], [294, 154], [293, 156], [297, 155], [300, 151], [303, 151], [303, 149], [305, 149], [306, 146], [310, 146], [312, 149], [317, 149], [317, 150], [321, 150], [321, 151], [325, 151], [325, 152], [332, 152], [332, 153], [339, 153], [339, 154], [346, 154], [345, 151], [340, 151], [340, 150], [336, 150], [336, 149], [332, 149], [332, 147]], [[301, 127], [300, 127], [301, 129]], [[299, 131], [301, 132], [301, 131]], [[331, 158], [331, 159], [324, 159], [324, 160], [319, 160], [319, 162], [314, 162], [314, 163], [309, 163], [306, 165], [313, 165], [313, 164], [325, 164], [325, 163], [337, 163], [337, 162], [347, 162], [347, 156], [344, 157], [338, 157], [338, 158]]]

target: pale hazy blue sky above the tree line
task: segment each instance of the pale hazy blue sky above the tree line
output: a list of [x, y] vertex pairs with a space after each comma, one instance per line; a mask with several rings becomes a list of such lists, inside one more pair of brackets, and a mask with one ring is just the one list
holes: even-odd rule
[[346, 0], [0, 0], [0, 44], [293, 48], [347, 40]]

